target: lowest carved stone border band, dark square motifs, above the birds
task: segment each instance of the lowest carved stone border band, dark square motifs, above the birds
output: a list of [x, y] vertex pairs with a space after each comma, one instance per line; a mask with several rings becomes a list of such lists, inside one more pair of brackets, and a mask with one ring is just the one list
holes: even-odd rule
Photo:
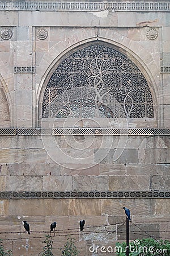
[[22, 191], [0, 192], [0, 199], [169, 199], [169, 191]]

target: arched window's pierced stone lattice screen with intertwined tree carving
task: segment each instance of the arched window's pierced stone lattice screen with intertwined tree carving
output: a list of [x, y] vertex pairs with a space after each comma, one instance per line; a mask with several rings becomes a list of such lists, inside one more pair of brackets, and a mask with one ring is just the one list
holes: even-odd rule
[[42, 101], [43, 117], [152, 118], [148, 83], [127, 56], [91, 44], [67, 56], [53, 72]]

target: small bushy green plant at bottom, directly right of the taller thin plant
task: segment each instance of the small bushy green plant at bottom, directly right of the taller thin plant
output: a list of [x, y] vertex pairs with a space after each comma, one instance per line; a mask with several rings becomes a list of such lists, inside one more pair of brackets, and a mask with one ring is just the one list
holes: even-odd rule
[[67, 237], [67, 241], [60, 250], [62, 250], [61, 256], [78, 256], [79, 251], [76, 249], [76, 246], [74, 244], [74, 238], [71, 236]]

